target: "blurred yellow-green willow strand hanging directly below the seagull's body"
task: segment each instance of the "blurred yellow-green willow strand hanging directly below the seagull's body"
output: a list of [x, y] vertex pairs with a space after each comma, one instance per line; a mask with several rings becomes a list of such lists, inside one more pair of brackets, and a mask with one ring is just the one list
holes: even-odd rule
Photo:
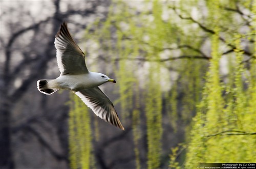
[[92, 144], [90, 115], [87, 106], [74, 93], [70, 94], [69, 151], [71, 168], [90, 168]]

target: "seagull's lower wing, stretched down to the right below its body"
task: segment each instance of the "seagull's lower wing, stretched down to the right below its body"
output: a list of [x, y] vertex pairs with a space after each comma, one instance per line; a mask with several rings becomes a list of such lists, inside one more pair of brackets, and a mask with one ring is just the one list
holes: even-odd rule
[[124, 130], [111, 100], [98, 88], [75, 92], [93, 112], [106, 122]]

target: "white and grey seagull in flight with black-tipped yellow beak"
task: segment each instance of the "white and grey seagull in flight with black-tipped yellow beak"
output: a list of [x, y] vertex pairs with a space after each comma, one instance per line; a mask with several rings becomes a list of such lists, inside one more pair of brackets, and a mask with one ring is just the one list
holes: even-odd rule
[[116, 81], [102, 73], [90, 72], [87, 69], [84, 53], [70, 35], [66, 22], [61, 24], [54, 44], [60, 75], [56, 79], [38, 80], [38, 91], [50, 95], [59, 89], [71, 90], [98, 117], [124, 130], [113, 103], [98, 87], [105, 82]]

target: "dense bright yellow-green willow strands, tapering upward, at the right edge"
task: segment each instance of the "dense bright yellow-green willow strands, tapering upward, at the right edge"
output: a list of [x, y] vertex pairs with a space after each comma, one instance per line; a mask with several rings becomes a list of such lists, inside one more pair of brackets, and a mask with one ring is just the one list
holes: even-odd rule
[[[208, 4], [212, 14], [220, 14], [221, 5], [218, 1]], [[223, 20], [220, 15], [210, 16], [214, 17], [215, 25], [219, 24], [220, 18]], [[211, 38], [212, 59], [206, 76], [204, 97], [191, 130], [187, 168], [198, 166], [198, 163], [255, 162], [256, 152], [251, 149], [255, 146], [255, 126], [251, 125], [256, 121], [256, 91], [252, 91], [255, 89], [255, 72], [252, 71], [255, 70], [255, 60], [251, 63], [250, 71], [247, 71], [241, 47], [244, 36], [233, 34], [230, 44], [235, 48], [227, 59], [227, 82], [221, 82], [220, 60], [223, 56], [220, 54], [220, 30], [221, 27], [216, 26]], [[250, 104], [251, 99], [254, 105]]]

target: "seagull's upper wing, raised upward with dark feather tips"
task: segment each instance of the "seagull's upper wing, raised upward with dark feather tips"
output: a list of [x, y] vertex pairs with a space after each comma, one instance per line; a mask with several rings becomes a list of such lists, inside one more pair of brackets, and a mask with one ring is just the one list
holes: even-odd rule
[[62, 75], [88, 73], [84, 53], [69, 33], [67, 23], [63, 22], [55, 36], [57, 63]]

